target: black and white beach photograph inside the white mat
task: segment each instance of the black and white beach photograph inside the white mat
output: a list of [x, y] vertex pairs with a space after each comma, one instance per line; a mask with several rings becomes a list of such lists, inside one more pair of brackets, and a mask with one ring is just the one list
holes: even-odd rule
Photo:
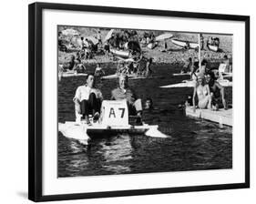
[[232, 168], [232, 34], [56, 30], [58, 178]]

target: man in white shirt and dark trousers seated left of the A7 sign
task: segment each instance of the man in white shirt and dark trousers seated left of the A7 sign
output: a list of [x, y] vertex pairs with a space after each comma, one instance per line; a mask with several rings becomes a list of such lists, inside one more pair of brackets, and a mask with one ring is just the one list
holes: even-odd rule
[[76, 95], [73, 98], [76, 116], [82, 115], [77, 120], [85, 120], [88, 125], [91, 125], [88, 116], [92, 115], [94, 122], [96, 122], [99, 117], [102, 100], [101, 91], [94, 87], [94, 75], [88, 74], [86, 84], [77, 87]]

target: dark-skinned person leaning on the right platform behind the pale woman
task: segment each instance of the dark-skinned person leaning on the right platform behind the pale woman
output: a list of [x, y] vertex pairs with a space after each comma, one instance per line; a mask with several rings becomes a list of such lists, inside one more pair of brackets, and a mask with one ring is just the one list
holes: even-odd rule
[[227, 109], [224, 88], [216, 81], [215, 75], [213, 72], [208, 72], [206, 75], [206, 83], [210, 87], [210, 96], [211, 96], [211, 107], [213, 110], [218, 110], [221, 106], [221, 103], [224, 109]]

